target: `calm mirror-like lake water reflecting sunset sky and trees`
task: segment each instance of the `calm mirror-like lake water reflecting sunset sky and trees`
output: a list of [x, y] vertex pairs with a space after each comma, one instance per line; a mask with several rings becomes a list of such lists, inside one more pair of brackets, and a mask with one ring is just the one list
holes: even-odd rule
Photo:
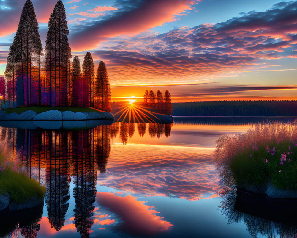
[[173, 125], [84, 131], [1, 127], [7, 157], [46, 189], [42, 214], [8, 236], [294, 237], [291, 225], [235, 210], [236, 194], [219, 195], [215, 141], [259, 120], [266, 118], [175, 118]]

